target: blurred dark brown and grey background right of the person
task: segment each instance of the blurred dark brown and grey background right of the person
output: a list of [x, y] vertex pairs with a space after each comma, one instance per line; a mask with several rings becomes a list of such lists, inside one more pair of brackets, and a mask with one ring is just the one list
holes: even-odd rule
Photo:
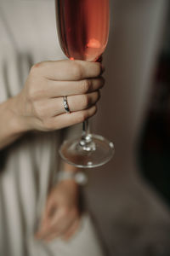
[[93, 129], [116, 147], [85, 189], [106, 255], [170, 255], [170, 6], [111, 0], [106, 86]]

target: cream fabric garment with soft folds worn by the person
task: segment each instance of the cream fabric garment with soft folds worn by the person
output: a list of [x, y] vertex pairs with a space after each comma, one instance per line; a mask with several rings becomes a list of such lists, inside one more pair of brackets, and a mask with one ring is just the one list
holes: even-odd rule
[[[0, 102], [21, 90], [32, 64], [64, 57], [53, 0], [0, 0]], [[31, 133], [0, 152], [0, 256], [102, 255], [88, 216], [68, 243], [33, 238], [62, 139], [61, 131]]]

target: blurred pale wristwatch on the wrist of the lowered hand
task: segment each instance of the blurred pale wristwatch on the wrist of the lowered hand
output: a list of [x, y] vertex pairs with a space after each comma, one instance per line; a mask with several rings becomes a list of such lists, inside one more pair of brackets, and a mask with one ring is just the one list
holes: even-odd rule
[[79, 185], [86, 185], [88, 183], [88, 176], [84, 172], [66, 172], [59, 171], [57, 174], [57, 181], [74, 180]]

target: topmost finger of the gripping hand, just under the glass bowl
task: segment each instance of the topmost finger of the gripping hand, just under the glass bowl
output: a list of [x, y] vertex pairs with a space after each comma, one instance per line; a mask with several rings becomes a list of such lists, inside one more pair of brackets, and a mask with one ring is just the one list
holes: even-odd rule
[[31, 67], [31, 73], [42, 73], [47, 79], [75, 81], [96, 78], [102, 73], [99, 62], [88, 61], [43, 61]]

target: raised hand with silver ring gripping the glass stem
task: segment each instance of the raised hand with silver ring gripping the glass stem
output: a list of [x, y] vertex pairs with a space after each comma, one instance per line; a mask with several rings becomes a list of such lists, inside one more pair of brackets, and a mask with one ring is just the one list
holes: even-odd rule
[[[93, 116], [104, 85], [102, 66], [88, 61], [44, 61], [31, 67], [24, 89], [15, 97], [29, 131], [54, 131]], [[65, 113], [68, 96], [71, 113]]]

